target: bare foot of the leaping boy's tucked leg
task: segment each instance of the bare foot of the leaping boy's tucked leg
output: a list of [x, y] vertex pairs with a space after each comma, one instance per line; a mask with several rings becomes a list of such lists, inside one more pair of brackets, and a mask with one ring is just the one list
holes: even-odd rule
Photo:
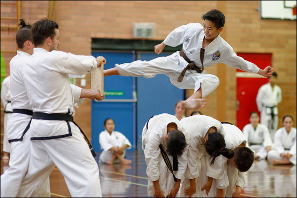
[[184, 108], [201, 109], [205, 106], [206, 99], [202, 99], [201, 87], [188, 99], [182, 101]]

